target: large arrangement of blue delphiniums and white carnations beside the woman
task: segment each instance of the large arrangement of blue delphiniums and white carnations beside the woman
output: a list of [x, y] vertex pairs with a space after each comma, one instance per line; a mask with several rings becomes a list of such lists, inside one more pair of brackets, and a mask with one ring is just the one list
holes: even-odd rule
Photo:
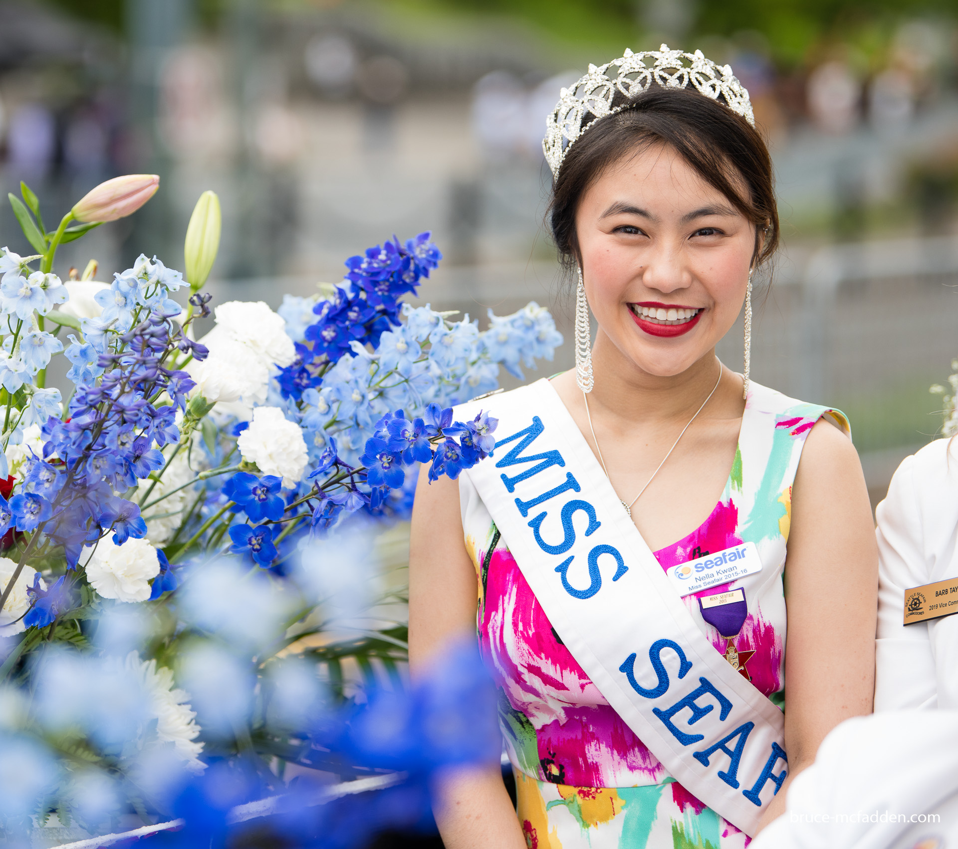
[[[49, 232], [21, 194], [37, 253], [0, 251], [0, 846], [166, 823], [177, 846], [360, 847], [427, 828], [439, 774], [497, 762], [495, 695], [467, 648], [408, 681], [381, 541], [422, 464], [455, 479], [492, 453], [494, 399], [452, 408], [500, 366], [551, 360], [551, 316], [530, 303], [480, 331], [403, 302], [442, 258], [428, 233], [278, 313], [211, 305], [211, 193], [193, 279], [141, 256], [63, 281], [58, 245], [97, 223], [68, 212]], [[348, 790], [370, 781], [375, 804]]]

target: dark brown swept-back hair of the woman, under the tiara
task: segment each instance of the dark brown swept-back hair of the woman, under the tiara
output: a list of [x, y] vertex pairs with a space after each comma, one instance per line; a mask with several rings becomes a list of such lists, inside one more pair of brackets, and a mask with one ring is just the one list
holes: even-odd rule
[[[559, 260], [567, 271], [579, 263], [576, 212], [582, 195], [605, 168], [648, 145], [672, 147], [710, 185], [755, 225], [759, 264], [778, 248], [779, 220], [772, 163], [762, 136], [724, 101], [694, 88], [652, 84], [627, 99], [616, 92], [615, 115], [594, 120], [568, 148], [546, 212]], [[738, 188], [744, 184], [747, 194]], [[764, 238], [763, 238], [764, 236]]]

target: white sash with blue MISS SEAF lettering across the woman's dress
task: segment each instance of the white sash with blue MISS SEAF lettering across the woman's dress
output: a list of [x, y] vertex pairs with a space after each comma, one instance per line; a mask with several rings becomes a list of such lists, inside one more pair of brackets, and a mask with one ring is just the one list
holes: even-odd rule
[[787, 773], [782, 712], [699, 630], [552, 385], [479, 406], [495, 453], [464, 474], [562, 642], [682, 786], [753, 835]]

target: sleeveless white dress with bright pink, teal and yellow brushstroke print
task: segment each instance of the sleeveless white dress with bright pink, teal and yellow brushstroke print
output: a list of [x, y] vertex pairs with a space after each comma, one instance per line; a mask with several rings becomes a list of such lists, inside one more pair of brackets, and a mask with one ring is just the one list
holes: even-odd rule
[[[516, 390], [521, 391], [521, 390]], [[488, 410], [495, 414], [495, 398]], [[802, 447], [823, 415], [845, 416], [749, 384], [735, 461], [719, 503], [692, 533], [653, 552], [663, 570], [754, 542], [763, 569], [696, 593], [745, 589], [748, 616], [734, 644], [744, 668], [785, 709], [786, 607], [782, 586], [791, 485]], [[480, 651], [499, 692], [517, 814], [530, 849], [731, 849], [749, 838], [685, 790], [626, 725], [562, 644], [490, 513], [460, 476], [466, 547], [479, 588]], [[725, 639], [685, 598], [719, 653]]]

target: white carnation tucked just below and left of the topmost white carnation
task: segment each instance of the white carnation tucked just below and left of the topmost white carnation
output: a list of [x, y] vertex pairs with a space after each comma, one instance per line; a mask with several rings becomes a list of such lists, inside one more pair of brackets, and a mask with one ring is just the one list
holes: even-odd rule
[[214, 327], [201, 340], [210, 349], [205, 360], [191, 361], [187, 371], [196, 381], [194, 393], [207, 401], [239, 401], [262, 404], [266, 400], [272, 364], [251, 346]]

